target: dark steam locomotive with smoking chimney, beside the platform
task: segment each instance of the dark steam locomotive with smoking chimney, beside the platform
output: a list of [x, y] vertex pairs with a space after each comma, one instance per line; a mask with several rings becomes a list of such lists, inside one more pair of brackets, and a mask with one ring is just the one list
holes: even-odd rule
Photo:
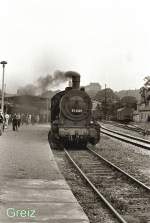
[[65, 73], [72, 86], [51, 99], [51, 130], [48, 139], [51, 148], [86, 147], [100, 140], [100, 125], [92, 116], [92, 101], [84, 88], [80, 88], [80, 75]]

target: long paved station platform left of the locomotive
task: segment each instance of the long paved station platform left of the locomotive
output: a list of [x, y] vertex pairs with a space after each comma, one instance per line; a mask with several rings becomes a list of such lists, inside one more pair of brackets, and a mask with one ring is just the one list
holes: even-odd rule
[[0, 223], [89, 223], [49, 147], [48, 125], [0, 136]]

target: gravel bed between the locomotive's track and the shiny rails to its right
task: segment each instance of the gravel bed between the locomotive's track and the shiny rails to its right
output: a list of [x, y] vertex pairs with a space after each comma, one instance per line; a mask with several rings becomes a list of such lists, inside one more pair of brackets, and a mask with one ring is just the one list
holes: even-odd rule
[[95, 151], [150, 186], [150, 151], [101, 134]]

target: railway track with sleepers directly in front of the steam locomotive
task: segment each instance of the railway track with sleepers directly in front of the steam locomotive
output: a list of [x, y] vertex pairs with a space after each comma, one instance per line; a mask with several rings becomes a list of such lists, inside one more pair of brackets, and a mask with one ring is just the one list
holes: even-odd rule
[[119, 222], [150, 222], [148, 186], [91, 149], [64, 151]]

